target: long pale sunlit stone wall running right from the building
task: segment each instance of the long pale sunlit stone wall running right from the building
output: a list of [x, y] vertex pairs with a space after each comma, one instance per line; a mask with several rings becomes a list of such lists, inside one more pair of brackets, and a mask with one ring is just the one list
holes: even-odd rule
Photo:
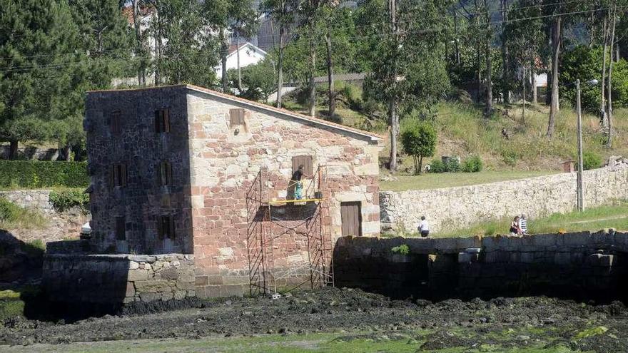
[[[628, 198], [628, 168], [584, 171], [584, 207]], [[576, 206], [576, 173], [561, 173], [500, 183], [457, 188], [380, 193], [384, 230], [416, 231], [425, 215], [432, 232], [480, 220], [515, 217], [524, 213], [530, 222]]]

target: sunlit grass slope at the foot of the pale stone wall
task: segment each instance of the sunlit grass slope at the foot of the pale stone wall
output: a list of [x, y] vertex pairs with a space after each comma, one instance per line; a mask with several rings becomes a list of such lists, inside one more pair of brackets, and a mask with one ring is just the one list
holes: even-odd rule
[[[508, 234], [510, 218], [489, 220], [471, 227], [449, 232], [435, 233], [435, 237], [456, 237], [473, 235]], [[618, 200], [612, 205], [589, 208], [584, 212], [554, 213], [547, 218], [528, 219], [530, 234], [577, 232], [579, 230], [597, 231], [604, 228], [628, 230], [628, 201]]]

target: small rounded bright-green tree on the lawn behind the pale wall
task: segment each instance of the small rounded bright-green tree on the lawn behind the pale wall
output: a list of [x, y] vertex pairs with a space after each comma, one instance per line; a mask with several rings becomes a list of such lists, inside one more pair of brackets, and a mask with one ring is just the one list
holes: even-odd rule
[[425, 121], [414, 121], [401, 133], [403, 150], [412, 155], [415, 162], [415, 174], [422, 173], [424, 157], [432, 157], [436, 150], [436, 130]]

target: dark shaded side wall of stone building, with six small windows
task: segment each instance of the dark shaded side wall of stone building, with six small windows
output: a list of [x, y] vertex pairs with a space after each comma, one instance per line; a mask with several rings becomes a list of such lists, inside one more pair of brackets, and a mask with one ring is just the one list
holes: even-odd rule
[[[169, 109], [170, 131], [156, 133], [155, 112]], [[120, 132], [111, 128], [120, 114]], [[101, 252], [192, 252], [190, 158], [183, 86], [88, 93], [87, 135], [93, 247]], [[172, 165], [172, 185], [161, 185], [162, 162]], [[114, 163], [126, 165], [126, 186], [111, 183]], [[160, 216], [173, 217], [174, 237], [158, 235]], [[125, 234], [116, 236], [116, 218]]]

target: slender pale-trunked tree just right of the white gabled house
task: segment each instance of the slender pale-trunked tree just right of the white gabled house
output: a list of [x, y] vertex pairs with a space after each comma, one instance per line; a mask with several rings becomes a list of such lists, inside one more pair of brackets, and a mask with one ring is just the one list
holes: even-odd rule
[[263, 0], [260, 10], [270, 16], [279, 25], [279, 46], [277, 62], [277, 108], [281, 108], [283, 91], [283, 49], [285, 48], [286, 32], [294, 21], [295, 10], [298, 9], [298, 0]]

